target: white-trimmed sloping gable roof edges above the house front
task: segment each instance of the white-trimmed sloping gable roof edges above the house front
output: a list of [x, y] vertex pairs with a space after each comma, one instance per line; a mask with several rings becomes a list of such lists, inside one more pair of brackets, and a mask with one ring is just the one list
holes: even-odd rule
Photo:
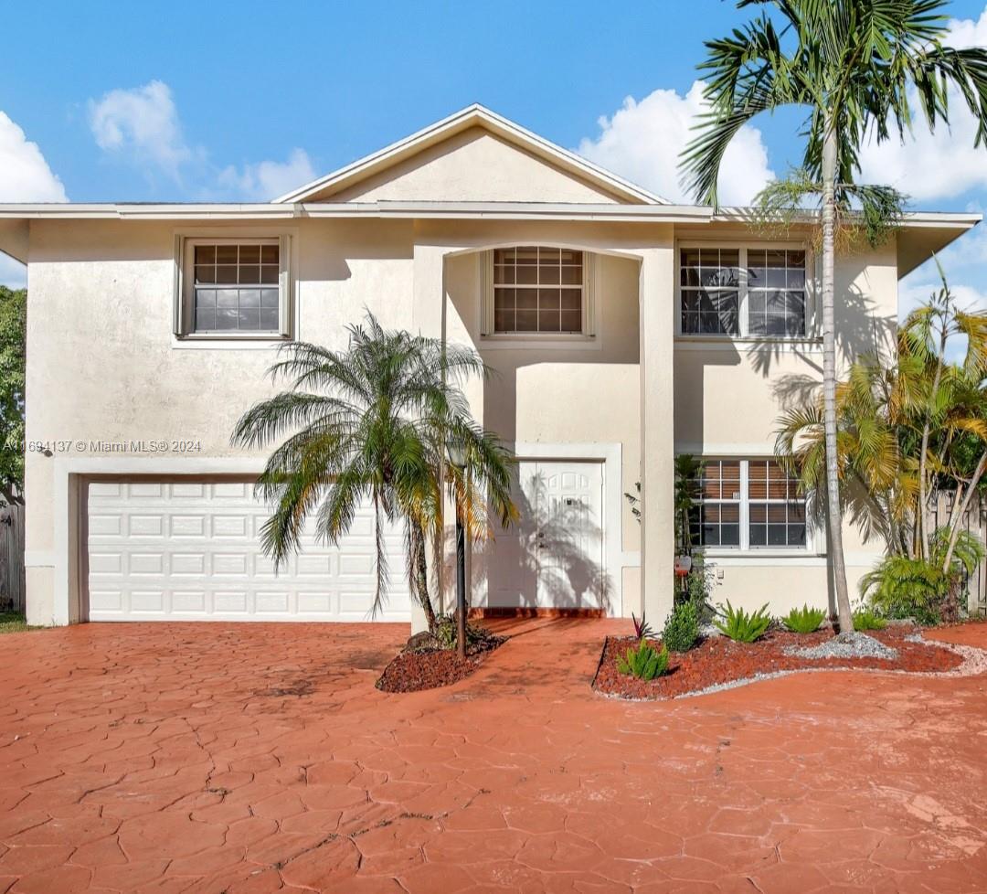
[[390, 146], [364, 156], [332, 174], [312, 181], [310, 184], [299, 186], [273, 201], [283, 204], [313, 201], [317, 197], [329, 197], [347, 186], [359, 183], [365, 178], [417, 155], [429, 146], [446, 140], [470, 127], [478, 126], [531, 155], [543, 159], [556, 168], [575, 175], [589, 184], [601, 187], [625, 201], [647, 205], [668, 204], [666, 199], [648, 192], [641, 186], [635, 186], [616, 174], [605, 171], [574, 152], [557, 146], [537, 133], [527, 130], [520, 124], [515, 124], [496, 112], [491, 112], [479, 104], [468, 106], [461, 112], [456, 112], [447, 118], [436, 121], [397, 143], [392, 143]]

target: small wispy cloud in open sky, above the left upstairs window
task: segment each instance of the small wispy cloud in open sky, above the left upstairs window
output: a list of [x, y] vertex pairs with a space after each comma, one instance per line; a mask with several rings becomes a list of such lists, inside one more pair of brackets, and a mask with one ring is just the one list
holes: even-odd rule
[[171, 88], [162, 81], [91, 100], [89, 124], [101, 149], [150, 161], [176, 181], [181, 181], [182, 165], [195, 155], [182, 135]]

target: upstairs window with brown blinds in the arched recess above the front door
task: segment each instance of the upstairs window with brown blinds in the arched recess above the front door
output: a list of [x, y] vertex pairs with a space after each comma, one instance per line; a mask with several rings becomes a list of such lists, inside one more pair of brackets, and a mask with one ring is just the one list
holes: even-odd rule
[[588, 258], [547, 246], [488, 253], [485, 334], [586, 334]]

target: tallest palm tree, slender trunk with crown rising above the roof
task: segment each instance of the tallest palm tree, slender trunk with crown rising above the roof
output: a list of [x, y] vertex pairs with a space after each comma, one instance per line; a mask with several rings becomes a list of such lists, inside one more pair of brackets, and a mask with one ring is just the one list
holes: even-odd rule
[[[843, 559], [837, 466], [836, 346], [833, 265], [840, 211], [852, 197], [866, 203], [874, 187], [854, 187], [859, 150], [868, 134], [903, 139], [917, 92], [930, 127], [949, 123], [949, 89], [987, 140], [987, 51], [943, 45], [944, 0], [738, 0], [761, 15], [729, 37], [706, 43], [705, 97], [711, 111], [686, 149], [683, 166], [701, 200], [717, 204], [723, 154], [737, 131], [760, 112], [801, 107], [806, 136], [801, 174], [820, 195], [822, 229], [823, 405], [829, 551], [840, 629], [853, 630]], [[771, 7], [776, 20], [768, 15]], [[870, 190], [870, 191], [868, 191]], [[873, 202], [872, 202], [873, 204]], [[867, 210], [867, 209], [865, 209]], [[868, 215], [865, 214], [865, 218]]]

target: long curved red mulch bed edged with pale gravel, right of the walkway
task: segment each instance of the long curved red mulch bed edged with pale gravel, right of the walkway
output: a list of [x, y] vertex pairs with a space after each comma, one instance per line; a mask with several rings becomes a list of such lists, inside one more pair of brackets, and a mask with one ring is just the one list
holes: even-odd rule
[[[625, 699], [674, 699], [711, 686], [735, 683], [779, 671], [819, 668], [877, 668], [941, 673], [962, 663], [962, 657], [931, 640], [912, 642], [905, 637], [918, 633], [911, 625], [889, 625], [882, 631], [868, 631], [875, 639], [898, 650], [893, 660], [882, 658], [799, 658], [787, 655], [786, 646], [816, 645], [833, 633], [790, 633], [770, 631], [757, 642], [734, 642], [726, 636], [711, 636], [685, 654], [669, 654], [668, 673], [645, 682], [617, 670], [617, 657], [629, 646], [637, 645], [633, 636], [608, 636], [603, 643], [600, 665], [593, 679], [593, 688], [609, 696]], [[657, 640], [653, 645], [660, 648]]]

